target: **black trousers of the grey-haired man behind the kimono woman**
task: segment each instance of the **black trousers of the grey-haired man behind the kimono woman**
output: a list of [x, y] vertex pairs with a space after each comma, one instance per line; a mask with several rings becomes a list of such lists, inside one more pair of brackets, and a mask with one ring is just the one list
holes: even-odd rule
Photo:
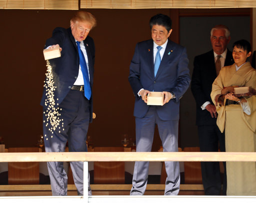
[[[198, 136], [201, 152], [225, 152], [225, 136], [217, 125], [198, 126]], [[226, 165], [224, 165], [222, 195], [226, 195]], [[221, 194], [221, 177], [219, 162], [201, 162], [202, 183], [205, 195]]]

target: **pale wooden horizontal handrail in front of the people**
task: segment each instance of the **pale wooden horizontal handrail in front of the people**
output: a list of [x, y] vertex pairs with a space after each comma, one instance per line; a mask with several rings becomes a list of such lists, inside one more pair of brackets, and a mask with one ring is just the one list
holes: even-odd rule
[[256, 162], [256, 152], [51, 152], [51, 153], [0, 153], [0, 162]]

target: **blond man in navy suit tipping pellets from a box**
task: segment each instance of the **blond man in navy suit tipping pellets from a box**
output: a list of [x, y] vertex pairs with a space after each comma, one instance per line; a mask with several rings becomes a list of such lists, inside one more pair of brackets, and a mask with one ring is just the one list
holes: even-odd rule
[[[87, 35], [95, 25], [96, 19], [91, 13], [78, 11], [70, 20], [70, 28], [57, 27], [46, 40], [45, 48], [59, 47], [61, 51], [61, 57], [49, 60], [53, 78], [46, 77], [41, 99], [46, 152], [64, 152], [66, 142], [69, 152], [87, 151], [95, 52], [93, 39]], [[53, 88], [49, 81], [54, 82]], [[59, 120], [58, 124], [54, 120]], [[66, 195], [67, 175], [63, 163], [48, 162], [47, 166], [52, 195]], [[70, 166], [77, 193], [83, 195], [83, 163], [70, 162]], [[90, 187], [88, 195], [91, 195]]]

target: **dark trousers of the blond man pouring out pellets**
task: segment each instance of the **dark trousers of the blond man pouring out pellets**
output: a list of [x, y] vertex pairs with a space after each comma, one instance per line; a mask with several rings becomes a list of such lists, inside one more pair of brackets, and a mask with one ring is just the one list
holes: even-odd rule
[[[46, 127], [46, 122], [43, 123], [45, 152], [64, 152], [66, 142], [68, 142], [69, 152], [87, 151], [85, 141], [89, 125], [89, 107], [90, 104], [84, 97], [84, 92], [76, 90], [68, 92], [59, 105], [59, 109], [61, 109], [59, 110], [60, 118], [63, 119], [59, 125], [60, 129], [57, 128], [51, 133], [48, 130], [50, 125]], [[43, 111], [46, 112], [46, 109], [43, 109]], [[43, 121], [46, 121], [45, 117], [46, 114], [43, 114]], [[67, 175], [63, 169], [63, 162], [47, 162], [47, 166], [52, 195], [67, 195]], [[77, 193], [78, 195], [83, 195], [83, 163], [70, 162], [70, 166]], [[88, 195], [91, 195], [90, 189]]]

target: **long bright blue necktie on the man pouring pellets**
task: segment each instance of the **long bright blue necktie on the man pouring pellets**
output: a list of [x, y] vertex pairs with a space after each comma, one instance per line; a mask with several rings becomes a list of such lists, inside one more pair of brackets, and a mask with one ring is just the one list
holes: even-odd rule
[[76, 41], [78, 54], [79, 54], [79, 60], [80, 60], [80, 66], [83, 76], [83, 83], [84, 83], [84, 96], [89, 100], [91, 96], [91, 90], [90, 90], [90, 82], [89, 82], [89, 75], [87, 70], [87, 65], [85, 62], [84, 55], [80, 48], [80, 42]]

